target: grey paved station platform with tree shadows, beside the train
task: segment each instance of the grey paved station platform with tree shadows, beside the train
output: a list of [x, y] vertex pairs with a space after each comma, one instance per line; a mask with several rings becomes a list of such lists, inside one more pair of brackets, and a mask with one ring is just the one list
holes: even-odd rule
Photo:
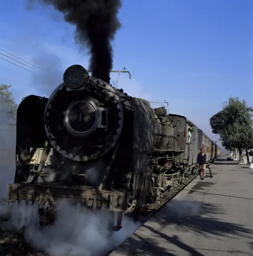
[[222, 157], [110, 256], [253, 256], [253, 170]]

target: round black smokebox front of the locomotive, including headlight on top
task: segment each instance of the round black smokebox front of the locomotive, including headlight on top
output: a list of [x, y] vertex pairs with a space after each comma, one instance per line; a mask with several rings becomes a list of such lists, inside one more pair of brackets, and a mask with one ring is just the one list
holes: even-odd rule
[[64, 83], [50, 96], [44, 116], [49, 142], [64, 157], [96, 160], [116, 144], [123, 110], [109, 82], [89, 76], [80, 65], [65, 71]]

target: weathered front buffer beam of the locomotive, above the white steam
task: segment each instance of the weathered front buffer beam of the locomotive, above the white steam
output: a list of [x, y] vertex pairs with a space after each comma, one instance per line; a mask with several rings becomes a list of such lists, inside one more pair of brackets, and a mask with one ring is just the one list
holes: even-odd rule
[[[34, 207], [35, 201], [38, 201], [40, 224], [41, 226], [49, 225], [55, 220], [57, 212], [55, 201], [63, 198], [73, 198], [73, 201], [76, 200], [78, 206], [82, 205], [92, 210], [101, 209], [103, 211], [105, 208], [109, 208], [108, 229], [113, 231], [118, 231], [122, 228], [123, 212], [127, 209], [127, 204], [131, 197], [131, 192], [125, 190], [99, 190], [92, 186], [60, 186], [59, 184], [9, 184], [8, 191], [9, 213], [8, 216], [5, 216], [5, 219], [12, 215], [12, 205], [15, 201], [18, 201], [20, 206], [22, 200], [25, 200], [26, 207], [28, 207], [29, 201], [32, 201], [32, 207]], [[115, 226], [114, 218], [116, 212], [118, 214]], [[4, 217], [2, 216], [3, 219]]]

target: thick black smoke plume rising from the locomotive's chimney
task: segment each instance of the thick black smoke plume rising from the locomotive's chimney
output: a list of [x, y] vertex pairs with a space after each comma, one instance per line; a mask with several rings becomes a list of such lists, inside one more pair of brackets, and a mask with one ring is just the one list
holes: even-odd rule
[[[30, 0], [31, 1], [31, 0]], [[121, 23], [121, 0], [41, 0], [63, 13], [76, 26], [76, 42], [90, 50], [90, 69], [95, 77], [109, 76], [113, 66], [111, 41]]]

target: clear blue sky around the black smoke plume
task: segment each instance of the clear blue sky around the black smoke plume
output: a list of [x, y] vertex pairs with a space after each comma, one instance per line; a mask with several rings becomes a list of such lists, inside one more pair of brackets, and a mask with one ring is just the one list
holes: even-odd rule
[[[0, 49], [43, 70], [34, 75], [0, 59], [0, 83], [13, 84], [17, 103], [29, 94], [48, 96], [70, 65], [88, 67], [75, 28], [52, 7], [35, 4], [28, 10], [26, 1], [0, 2]], [[132, 79], [121, 74], [118, 87], [152, 102], [166, 99], [171, 113], [186, 116], [211, 139], [218, 137], [209, 117], [229, 96], [253, 105], [252, 0], [122, 3], [113, 69], [126, 67]], [[111, 78], [115, 85], [117, 74]]]

